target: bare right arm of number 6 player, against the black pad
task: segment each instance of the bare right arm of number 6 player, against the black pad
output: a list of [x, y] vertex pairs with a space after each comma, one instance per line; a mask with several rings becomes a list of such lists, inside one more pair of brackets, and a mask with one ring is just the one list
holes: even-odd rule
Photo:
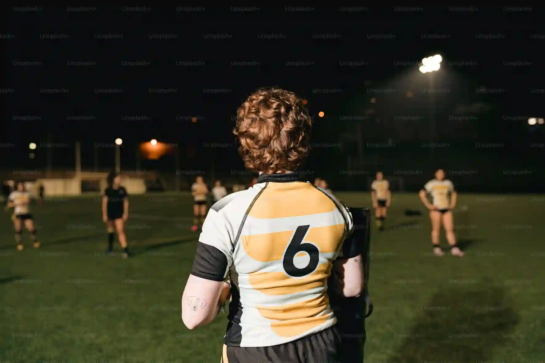
[[364, 264], [361, 255], [348, 260], [335, 260], [332, 273], [340, 280], [338, 293], [347, 298], [358, 297], [364, 290]]

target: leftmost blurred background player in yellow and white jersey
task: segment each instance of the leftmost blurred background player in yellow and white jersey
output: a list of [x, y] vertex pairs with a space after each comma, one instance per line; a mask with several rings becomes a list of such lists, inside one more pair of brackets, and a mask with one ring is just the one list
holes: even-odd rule
[[15, 229], [15, 241], [17, 242], [17, 249], [20, 251], [24, 248], [21, 241], [23, 225], [31, 232], [34, 248], [40, 247], [40, 242], [36, 237], [36, 226], [30, 213], [30, 204], [30, 193], [25, 190], [25, 185], [22, 182], [17, 183], [17, 189], [11, 192], [8, 197], [8, 207], [14, 208], [14, 217], [12, 219]]

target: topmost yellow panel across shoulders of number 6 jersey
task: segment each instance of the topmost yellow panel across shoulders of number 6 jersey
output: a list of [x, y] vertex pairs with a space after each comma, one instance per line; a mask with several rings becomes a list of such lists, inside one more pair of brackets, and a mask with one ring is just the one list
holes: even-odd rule
[[[278, 203], [278, 194], [282, 203]], [[250, 210], [250, 217], [287, 218], [334, 211], [335, 203], [310, 183], [269, 183]], [[325, 197], [325, 198], [324, 198]]]

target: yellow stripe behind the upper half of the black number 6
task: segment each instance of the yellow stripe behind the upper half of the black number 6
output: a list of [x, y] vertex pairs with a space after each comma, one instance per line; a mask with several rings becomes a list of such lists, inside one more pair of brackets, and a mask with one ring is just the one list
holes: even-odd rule
[[[341, 243], [344, 233], [344, 223], [332, 226], [314, 227], [308, 230], [302, 243], [315, 244], [320, 253], [335, 253]], [[259, 262], [282, 260], [294, 231], [264, 233], [262, 235], [247, 235], [242, 237], [242, 245], [246, 254]], [[305, 256], [298, 253], [295, 257]]]

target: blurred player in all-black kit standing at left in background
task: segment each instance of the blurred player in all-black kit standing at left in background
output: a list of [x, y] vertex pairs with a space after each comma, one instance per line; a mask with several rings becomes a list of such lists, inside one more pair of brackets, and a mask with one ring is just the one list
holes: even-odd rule
[[108, 187], [102, 197], [102, 221], [106, 223], [108, 229], [108, 250], [113, 250], [113, 240], [115, 232], [119, 244], [123, 248], [123, 258], [129, 257], [129, 248], [125, 236], [125, 222], [129, 217], [129, 194], [121, 186], [121, 178], [113, 171], [108, 174]]

